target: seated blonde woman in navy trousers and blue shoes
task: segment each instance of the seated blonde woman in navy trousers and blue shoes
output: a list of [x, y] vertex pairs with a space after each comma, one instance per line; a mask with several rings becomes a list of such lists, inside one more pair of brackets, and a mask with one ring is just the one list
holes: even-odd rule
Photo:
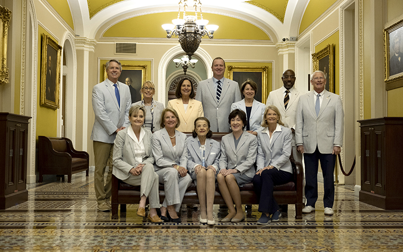
[[264, 129], [257, 134], [257, 172], [253, 177], [254, 190], [260, 198], [258, 211], [262, 213], [257, 221], [259, 225], [280, 220], [281, 213], [273, 197], [273, 186], [285, 184], [293, 177], [291, 130], [284, 127], [280, 111], [274, 105], [267, 106], [264, 118]]

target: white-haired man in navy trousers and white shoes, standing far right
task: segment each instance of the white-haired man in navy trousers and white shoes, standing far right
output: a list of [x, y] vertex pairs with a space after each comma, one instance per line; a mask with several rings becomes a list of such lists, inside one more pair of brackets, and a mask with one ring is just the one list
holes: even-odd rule
[[336, 157], [343, 145], [344, 111], [339, 95], [325, 90], [322, 71], [311, 76], [313, 91], [301, 95], [297, 106], [295, 140], [304, 154], [306, 207], [302, 213], [315, 211], [318, 198], [318, 161], [323, 173], [324, 214], [333, 215], [333, 172]]

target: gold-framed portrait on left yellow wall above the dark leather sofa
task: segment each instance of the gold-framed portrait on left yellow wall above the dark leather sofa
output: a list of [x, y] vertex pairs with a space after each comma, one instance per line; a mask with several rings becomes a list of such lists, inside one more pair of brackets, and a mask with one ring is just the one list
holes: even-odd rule
[[42, 34], [41, 101], [52, 109], [60, 107], [61, 46], [48, 35]]

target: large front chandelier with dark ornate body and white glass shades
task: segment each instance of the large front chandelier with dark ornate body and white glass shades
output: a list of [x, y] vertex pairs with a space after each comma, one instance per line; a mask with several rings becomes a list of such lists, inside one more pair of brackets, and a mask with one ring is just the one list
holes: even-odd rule
[[[197, 50], [201, 37], [206, 35], [209, 38], [213, 38], [213, 33], [218, 29], [218, 25], [207, 25], [209, 20], [203, 19], [203, 13], [201, 13], [200, 0], [193, 0], [194, 15], [186, 14], [187, 0], [179, 1], [178, 17], [172, 20], [173, 24], [164, 24], [162, 28], [167, 32], [167, 38], [171, 38], [172, 34], [179, 37], [180, 46], [189, 56], [191, 56]], [[183, 9], [183, 18], [180, 19], [180, 10]], [[198, 12], [200, 17], [198, 18]]]

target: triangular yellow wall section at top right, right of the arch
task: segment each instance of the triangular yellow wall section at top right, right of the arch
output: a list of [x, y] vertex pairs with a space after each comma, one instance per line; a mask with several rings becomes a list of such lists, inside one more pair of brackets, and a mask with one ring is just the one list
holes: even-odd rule
[[313, 23], [322, 13], [324, 13], [330, 6], [337, 0], [310, 0], [305, 9], [304, 15], [301, 19], [299, 27], [299, 34], [301, 34], [310, 24]]

